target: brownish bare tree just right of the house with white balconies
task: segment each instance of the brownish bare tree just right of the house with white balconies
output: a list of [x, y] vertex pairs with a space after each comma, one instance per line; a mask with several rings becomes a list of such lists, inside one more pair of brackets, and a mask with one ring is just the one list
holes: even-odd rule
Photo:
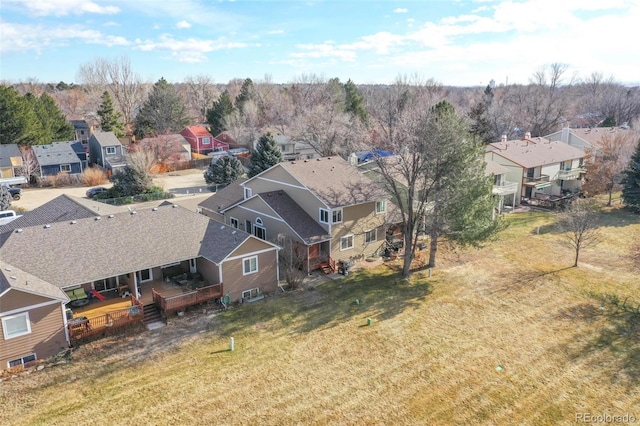
[[589, 195], [608, 194], [607, 206], [611, 206], [613, 192], [620, 189], [622, 172], [639, 140], [632, 130], [605, 133], [586, 151], [587, 181], [582, 189]]

